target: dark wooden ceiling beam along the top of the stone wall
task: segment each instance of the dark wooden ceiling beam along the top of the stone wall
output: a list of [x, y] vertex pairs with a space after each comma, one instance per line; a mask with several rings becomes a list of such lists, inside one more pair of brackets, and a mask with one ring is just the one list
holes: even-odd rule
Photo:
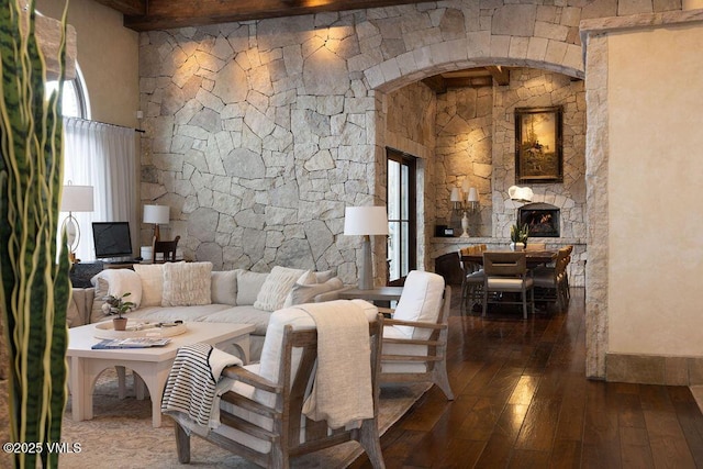
[[[135, 31], [420, 3], [423, 0], [97, 0], [124, 14]], [[426, 1], [426, 0], [425, 0]], [[140, 12], [135, 12], [140, 10]]]

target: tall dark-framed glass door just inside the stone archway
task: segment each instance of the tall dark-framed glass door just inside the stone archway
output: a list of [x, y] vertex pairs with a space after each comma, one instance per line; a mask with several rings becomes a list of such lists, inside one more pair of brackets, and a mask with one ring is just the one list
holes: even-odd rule
[[388, 160], [388, 284], [402, 286], [416, 268], [414, 156], [387, 149]]

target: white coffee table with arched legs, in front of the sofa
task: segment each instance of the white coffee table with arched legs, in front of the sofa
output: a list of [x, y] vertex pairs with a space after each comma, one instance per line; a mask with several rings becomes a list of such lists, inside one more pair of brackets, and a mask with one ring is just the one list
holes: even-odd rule
[[[152, 398], [152, 425], [161, 426], [161, 395], [178, 347], [203, 342], [213, 346], [234, 344], [242, 350], [245, 362], [249, 358], [252, 324], [186, 323], [187, 332], [169, 337], [164, 347], [93, 350], [96, 325], [68, 330], [69, 383], [72, 417], [92, 418], [92, 391], [100, 373], [111, 367], [129, 368], [142, 378]], [[135, 376], [136, 379], [136, 376]]]

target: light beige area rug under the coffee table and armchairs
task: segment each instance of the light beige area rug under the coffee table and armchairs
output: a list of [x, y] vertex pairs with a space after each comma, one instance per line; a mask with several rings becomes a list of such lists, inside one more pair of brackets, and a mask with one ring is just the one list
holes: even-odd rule
[[[132, 377], [127, 377], [127, 383]], [[379, 429], [381, 434], [393, 425], [428, 389], [427, 384], [391, 387], [381, 390]], [[174, 422], [165, 416], [160, 428], [152, 427], [150, 401], [137, 401], [127, 393], [118, 398], [116, 375], [101, 375], [93, 392], [93, 418], [74, 422], [70, 399], [64, 416], [63, 443], [78, 447], [80, 453], [59, 457], [59, 468], [172, 468], [178, 467]], [[191, 437], [191, 462], [194, 468], [254, 468], [254, 464], [205, 442]], [[293, 460], [293, 467], [344, 468], [362, 453], [356, 442], [317, 451]]]

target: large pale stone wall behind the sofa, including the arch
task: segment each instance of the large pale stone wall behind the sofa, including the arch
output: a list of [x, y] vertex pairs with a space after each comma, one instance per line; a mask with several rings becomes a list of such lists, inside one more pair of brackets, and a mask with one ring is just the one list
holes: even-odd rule
[[142, 201], [171, 206], [188, 257], [353, 282], [344, 206], [384, 202], [383, 93], [476, 65], [583, 77], [580, 21], [680, 9], [457, 0], [143, 33]]

